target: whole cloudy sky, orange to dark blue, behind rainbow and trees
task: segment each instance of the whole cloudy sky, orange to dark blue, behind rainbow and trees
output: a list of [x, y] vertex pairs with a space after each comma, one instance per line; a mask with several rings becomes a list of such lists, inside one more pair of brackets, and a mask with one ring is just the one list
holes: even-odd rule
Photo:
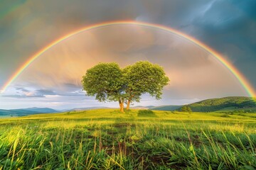
[[[0, 88], [36, 52], [75, 30], [111, 21], [174, 28], [208, 45], [256, 89], [256, 1], [94, 0], [0, 1]], [[162, 99], [134, 106], [181, 105], [248, 96], [238, 79], [202, 47], [158, 28], [117, 25], [74, 35], [32, 62], [0, 96], [0, 108], [117, 107], [85, 96], [80, 84], [99, 62], [121, 67], [148, 60], [171, 80]]]

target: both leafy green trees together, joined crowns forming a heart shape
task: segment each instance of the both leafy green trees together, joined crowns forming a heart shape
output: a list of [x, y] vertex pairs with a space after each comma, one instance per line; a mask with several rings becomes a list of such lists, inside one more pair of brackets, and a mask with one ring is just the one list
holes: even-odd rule
[[150, 62], [136, 62], [124, 69], [117, 63], [100, 63], [87, 69], [82, 77], [82, 86], [87, 96], [95, 96], [102, 101], [118, 101], [120, 111], [127, 110], [132, 101], [139, 102], [142, 94], [161, 98], [162, 89], [168, 84], [164, 69]]

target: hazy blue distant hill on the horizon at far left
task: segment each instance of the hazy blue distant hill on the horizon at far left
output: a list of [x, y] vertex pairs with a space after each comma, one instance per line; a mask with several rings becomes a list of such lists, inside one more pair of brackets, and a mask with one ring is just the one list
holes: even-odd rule
[[0, 109], [0, 116], [23, 116], [23, 115], [33, 115], [38, 113], [57, 113], [58, 111], [53, 110], [52, 108], [19, 108], [4, 110]]

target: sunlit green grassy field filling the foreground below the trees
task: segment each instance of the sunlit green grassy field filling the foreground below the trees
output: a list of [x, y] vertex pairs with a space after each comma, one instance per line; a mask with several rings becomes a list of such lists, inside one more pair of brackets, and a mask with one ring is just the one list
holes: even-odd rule
[[100, 109], [1, 119], [0, 169], [256, 169], [256, 114]]

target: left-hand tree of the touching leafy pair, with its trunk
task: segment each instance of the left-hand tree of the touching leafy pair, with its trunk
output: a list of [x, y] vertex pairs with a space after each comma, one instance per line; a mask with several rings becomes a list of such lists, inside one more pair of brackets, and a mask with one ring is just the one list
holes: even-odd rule
[[100, 63], [87, 69], [82, 77], [83, 90], [87, 96], [95, 96], [100, 102], [118, 101], [120, 111], [124, 112], [122, 69], [117, 63]]

